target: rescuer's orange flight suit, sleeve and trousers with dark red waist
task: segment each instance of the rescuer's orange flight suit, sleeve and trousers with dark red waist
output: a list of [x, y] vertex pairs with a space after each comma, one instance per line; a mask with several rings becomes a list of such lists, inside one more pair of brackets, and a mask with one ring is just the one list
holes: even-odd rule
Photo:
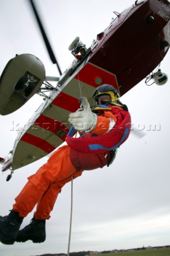
[[[111, 111], [104, 111], [98, 116], [98, 123], [92, 133], [102, 135], [109, 130], [110, 119], [116, 117]], [[102, 130], [101, 124], [102, 123]], [[37, 204], [34, 216], [37, 220], [50, 219], [50, 212], [61, 188], [73, 178], [82, 175], [84, 170], [93, 170], [107, 165], [110, 153], [93, 154], [80, 153], [69, 146], [62, 146], [56, 150], [47, 163], [28, 178], [28, 182], [15, 198], [13, 210], [19, 212], [20, 217], [26, 217]]]

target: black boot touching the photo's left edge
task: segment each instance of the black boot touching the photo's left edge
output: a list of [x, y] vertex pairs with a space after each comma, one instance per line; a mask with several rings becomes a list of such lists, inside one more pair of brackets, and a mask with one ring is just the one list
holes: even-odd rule
[[18, 235], [23, 218], [18, 212], [11, 211], [9, 215], [0, 216], [0, 241], [3, 244], [13, 244]]

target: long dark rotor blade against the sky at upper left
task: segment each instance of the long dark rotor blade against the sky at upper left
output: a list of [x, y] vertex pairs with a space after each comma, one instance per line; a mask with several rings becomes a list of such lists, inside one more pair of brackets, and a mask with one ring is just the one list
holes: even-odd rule
[[36, 10], [36, 8], [35, 8], [35, 5], [34, 5], [34, 3], [33, 3], [33, 0], [30, 0], [30, 4], [31, 4], [31, 7], [33, 8], [33, 11], [34, 11], [36, 20], [37, 20], [37, 22], [38, 22], [39, 29], [41, 30], [42, 36], [43, 36], [43, 38], [44, 38], [44, 42], [45, 42], [45, 45], [46, 45], [48, 54], [50, 55], [50, 59], [52, 60], [53, 64], [56, 64], [56, 66], [58, 67], [58, 70], [59, 70], [59, 73], [60, 73], [60, 76], [61, 76], [61, 75], [62, 75], [62, 72], [61, 72], [61, 69], [60, 69], [60, 67], [59, 67], [59, 63], [58, 63], [58, 61], [56, 61], [56, 58], [55, 58], [55, 56], [54, 56], [52, 47], [51, 47], [51, 45], [50, 45], [50, 42], [48, 41], [48, 38], [47, 38], [47, 36], [46, 36], [45, 30], [44, 30], [44, 28], [43, 28], [41, 19], [39, 18], [39, 15], [38, 15], [38, 13], [37, 13], [37, 10]]

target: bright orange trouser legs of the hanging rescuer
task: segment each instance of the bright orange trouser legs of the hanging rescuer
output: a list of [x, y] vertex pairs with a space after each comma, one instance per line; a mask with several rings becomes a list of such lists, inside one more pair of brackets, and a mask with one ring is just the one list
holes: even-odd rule
[[71, 180], [82, 175], [76, 171], [70, 161], [70, 147], [63, 146], [56, 150], [47, 163], [28, 178], [28, 182], [15, 198], [13, 210], [20, 217], [26, 217], [37, 204], [34, 216], [37, 220], [50, 219], [50, 212], [61, 188]]

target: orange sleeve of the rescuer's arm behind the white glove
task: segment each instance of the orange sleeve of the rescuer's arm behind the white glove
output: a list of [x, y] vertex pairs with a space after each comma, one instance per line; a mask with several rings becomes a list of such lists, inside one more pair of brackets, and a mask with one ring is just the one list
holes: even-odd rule
[[117, 118], [114, 114], [112, 114], [111, 111], [104, 111], [104, 115], [98, 116], [98, 122], [94, 128], [94, 130], [91, 131], [91, 133], [95, 133], [98, 135], [103, 135], [109, 130], [110, 126], [110, 119], [113, 119], [114, 122], [117, 122]]

